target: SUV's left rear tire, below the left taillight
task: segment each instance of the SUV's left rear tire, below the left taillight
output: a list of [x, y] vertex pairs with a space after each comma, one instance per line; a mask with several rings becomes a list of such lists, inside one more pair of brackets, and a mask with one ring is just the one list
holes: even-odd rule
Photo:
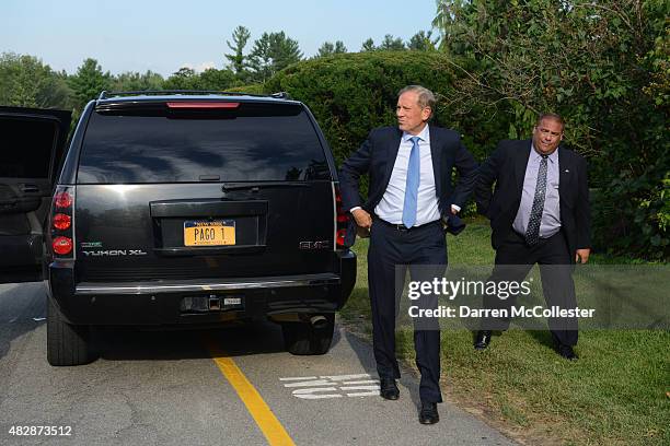
[[73, 326], [65, 320], [54, 298], [47, 297], [47, 361], [50, 365], [81, 365], [92, 361], [89, 326]]

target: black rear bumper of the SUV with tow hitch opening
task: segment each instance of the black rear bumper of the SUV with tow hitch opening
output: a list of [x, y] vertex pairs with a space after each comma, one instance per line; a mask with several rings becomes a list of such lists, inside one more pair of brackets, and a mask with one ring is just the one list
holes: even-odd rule
[[[342, 308], [356, 282], [356, 255], [337, 251], [337, 273], [186, 281], [91, 283], [74, 281], [73, 263], [49, 266], [49, 292], [63, 318], [74, 325], [215, 324], [284, 319]], [[184, 310], [184, 298], [240, 305]]]

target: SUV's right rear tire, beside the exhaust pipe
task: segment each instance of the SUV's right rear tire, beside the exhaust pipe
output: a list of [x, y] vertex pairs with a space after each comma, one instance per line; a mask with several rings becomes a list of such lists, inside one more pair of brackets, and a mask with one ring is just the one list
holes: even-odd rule
[[326, 318], [322, 327], [310, 322], [285, 322], [281, 325], [286, 350], [296, 355], [325, 354], [331, 348], [335, 331], [335, 314], [323, 315]]

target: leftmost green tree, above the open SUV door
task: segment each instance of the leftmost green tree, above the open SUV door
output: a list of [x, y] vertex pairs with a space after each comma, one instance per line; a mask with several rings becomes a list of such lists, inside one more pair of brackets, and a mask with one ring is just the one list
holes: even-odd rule
[[72, 107], [66, 75], [34, 56], [3, 52], [0, 56], [0, 104], [18, 107]]

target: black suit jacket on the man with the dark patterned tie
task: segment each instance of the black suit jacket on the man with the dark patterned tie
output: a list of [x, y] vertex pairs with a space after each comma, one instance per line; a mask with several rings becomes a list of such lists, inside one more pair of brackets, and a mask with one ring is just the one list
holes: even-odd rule
[[[531, 140], [500, 141], [489, 159], [480, 166], [475, 201], [480, 213], [490, 220], [494, 249], [498, 249], [512, 231], [521, 203], [530, 150]], [[570, 259], [575, 261], [575, 250], [591, 246], [587, 165], [579, 154], [559, 146], [558, 167], [561, 226], [567, 238]], [[492, 193], [494, 183], [495, 190]]]

